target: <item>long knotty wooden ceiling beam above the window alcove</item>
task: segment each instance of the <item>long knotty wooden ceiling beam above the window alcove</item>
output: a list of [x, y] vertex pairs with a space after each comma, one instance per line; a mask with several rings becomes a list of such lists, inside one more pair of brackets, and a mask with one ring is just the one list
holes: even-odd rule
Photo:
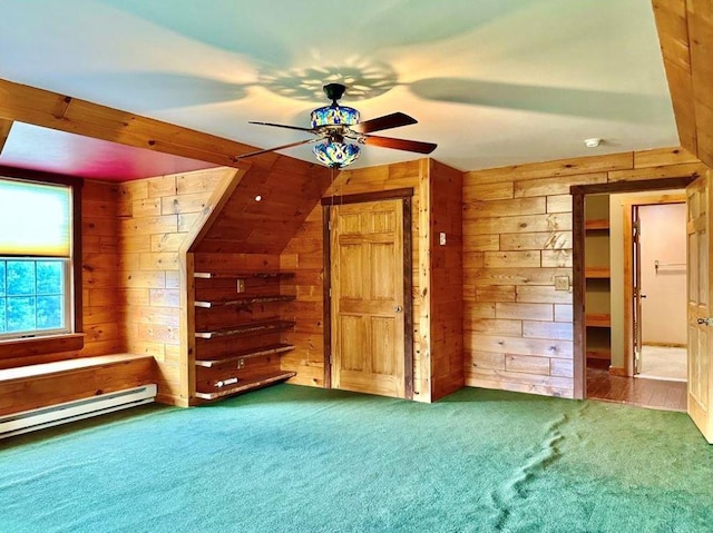
[[[214, 135], [0, 79], [0, 134], [12, 121], [235, 168], [240, 168], [235, 156], [257, 150]], [[251, 161], [254, 166], [270, 166], [273, 159], [255, 157]]]

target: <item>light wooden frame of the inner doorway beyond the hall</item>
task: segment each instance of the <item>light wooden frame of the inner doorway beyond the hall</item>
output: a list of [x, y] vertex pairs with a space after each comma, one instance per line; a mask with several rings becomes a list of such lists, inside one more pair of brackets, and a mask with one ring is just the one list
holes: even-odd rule
[[634, 265], [632, 263], [632, 249], [634, 246], [634, 239], [632, 237], [632, 209], [634, 206], [657, 206], [667, 204], [685, 204], [686, 193], [661, 194], [658, 196], [635, 196], [628, 198], [622, 204], [623, 220], [624, 220], [624, 346], [626, 353], [624, 354], [624, 374], [615, 373], [617, 375], [634, 376], [634, 359], [632, 357], [632, 346], [634, 339], [634, 323], [632, 316], [632, 307], [629, 303], [634, 299], [634, 289], [632, 287], [632, 275]]

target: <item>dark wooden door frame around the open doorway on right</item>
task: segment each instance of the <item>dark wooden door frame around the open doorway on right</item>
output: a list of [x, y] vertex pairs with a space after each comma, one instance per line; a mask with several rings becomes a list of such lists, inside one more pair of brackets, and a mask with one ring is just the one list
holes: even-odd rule
[[609, 184], [573, 185], [572, 195], [572, 298], [573, 298], [573, 348], [574, 348], [574, 398], [587, 397], [586, 373], [586, 326], [585, 326], [585, 265], [584, 265], [584, 199], [587, 195], [643, 193], [647, 190], [685, 189], [699, 178], [693, 176], [674, 178], [643, 179], [633, 181], [616, 181]]

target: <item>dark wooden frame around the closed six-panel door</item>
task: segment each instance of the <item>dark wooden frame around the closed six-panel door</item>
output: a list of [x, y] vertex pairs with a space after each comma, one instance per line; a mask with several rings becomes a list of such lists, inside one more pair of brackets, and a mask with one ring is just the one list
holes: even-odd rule
[[413, 236], [411, 234], [411, 199], [413, 187], [322, 198], [322, 246], [324, 258], [323, 324], [324, 324], [324, 388], [332, 388], [332, 239], [330, 220], [332, 207], [380, 200], [401, 200], [403, 207], [403, 379], [404, 397], [413, 399]]

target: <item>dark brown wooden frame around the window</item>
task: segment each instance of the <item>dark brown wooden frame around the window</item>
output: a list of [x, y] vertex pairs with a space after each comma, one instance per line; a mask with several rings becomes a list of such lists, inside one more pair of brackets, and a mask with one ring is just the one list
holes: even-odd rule
[[0, 359], [30, 355], [67, 352], [84, 347], [82, 325], [82, 285], [81, 285], [81, 188], [84, 179], [50, 172], [25, 170], [0, 165], [0, 177], [40, 185], [61, 185], [70, 188], [71, 196], [71, 249], [69, 254], [67, 278], [67, 312], [70, 314], [67, 324], [68, 333], [42, 334], [38, 330], [33, 336], [0, 338]]

